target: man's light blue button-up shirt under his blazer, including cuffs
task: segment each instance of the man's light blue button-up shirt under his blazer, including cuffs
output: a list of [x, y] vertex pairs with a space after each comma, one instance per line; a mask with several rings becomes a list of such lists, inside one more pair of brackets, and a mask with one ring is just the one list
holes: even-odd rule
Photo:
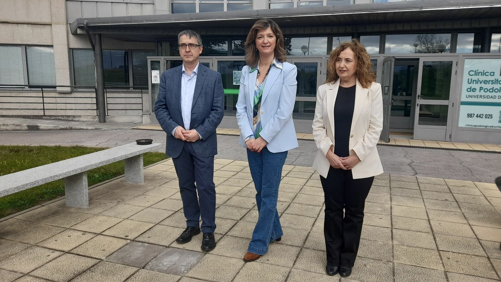
[[[198, 66], [200, 62], [196, 64], [195, 69], [188, 74], [184, 69], [184, 63], [181, 72], [181, 113], [183, 115], [184, 129], [189, 130], [189, 125], [191, 122], [191, 106], [193, 105], [193, 93], [195, 92], [196, 84], [196, 74], [198, 73]], [[171, 134], [174, 135], [177, 126], [172, 130]], [[198, 133], [200, 139], [202, 136]]]

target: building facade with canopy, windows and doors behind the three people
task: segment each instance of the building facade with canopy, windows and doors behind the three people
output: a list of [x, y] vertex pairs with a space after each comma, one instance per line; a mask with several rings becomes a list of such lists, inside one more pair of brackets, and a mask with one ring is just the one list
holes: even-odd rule
[[316, 89], [325, 82], [330, 51], [357, 38], [383, 86], [382, 139], [397, 131], [416, 139], [501, 140], [499, 0], [4, 0], [0, 5], [0, 115], [97, 119], [95, 49], [102, 50], [98, 70], [106, 120], [156, 123], [157, 77], [181, 64], [177, 34], [192, 29], [203, 40], [200, 62], [222, 74], [221, 127], [236, 128], [243, 42], [257, 19], [272, 18], [286, 37], [288, 61], [298, 67], [293, 112], [298, 132], [312, 130]]

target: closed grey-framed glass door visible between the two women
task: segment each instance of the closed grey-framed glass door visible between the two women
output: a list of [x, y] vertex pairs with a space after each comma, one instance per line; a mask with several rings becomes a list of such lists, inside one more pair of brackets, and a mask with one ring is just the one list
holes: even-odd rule
[[[322, 58], [294, 58], [290, 62], [298, 68], [296, 103], [292, 117], [296, 120], [313, 120], [317, 88], [323, 83]], [[312, 130], [310, 122], [296, 122], [295, 126], [298, 132], [311, 132]]]

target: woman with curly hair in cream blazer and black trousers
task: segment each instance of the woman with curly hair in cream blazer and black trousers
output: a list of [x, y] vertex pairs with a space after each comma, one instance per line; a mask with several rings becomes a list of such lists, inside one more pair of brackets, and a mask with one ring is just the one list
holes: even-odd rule
[[326, 272], [346, 277], [358, 252], [365, 199], [374, 176], [383, 173], [376, 149], [383, 100], [360, 42], [344, 42], [333, 50], [327, 69], [327, 82], [317, 91], [313, 168], [325, 193]]

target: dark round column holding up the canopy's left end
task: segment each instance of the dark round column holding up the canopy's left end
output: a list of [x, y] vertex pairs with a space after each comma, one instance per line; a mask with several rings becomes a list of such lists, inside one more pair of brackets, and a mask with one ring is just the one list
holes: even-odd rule
[[96, 95], [99, 122], [106, 122], [106, 101], [104, 97], [103, 44], [101, 34], [94, 37], [94, 61], [96, 62]]

